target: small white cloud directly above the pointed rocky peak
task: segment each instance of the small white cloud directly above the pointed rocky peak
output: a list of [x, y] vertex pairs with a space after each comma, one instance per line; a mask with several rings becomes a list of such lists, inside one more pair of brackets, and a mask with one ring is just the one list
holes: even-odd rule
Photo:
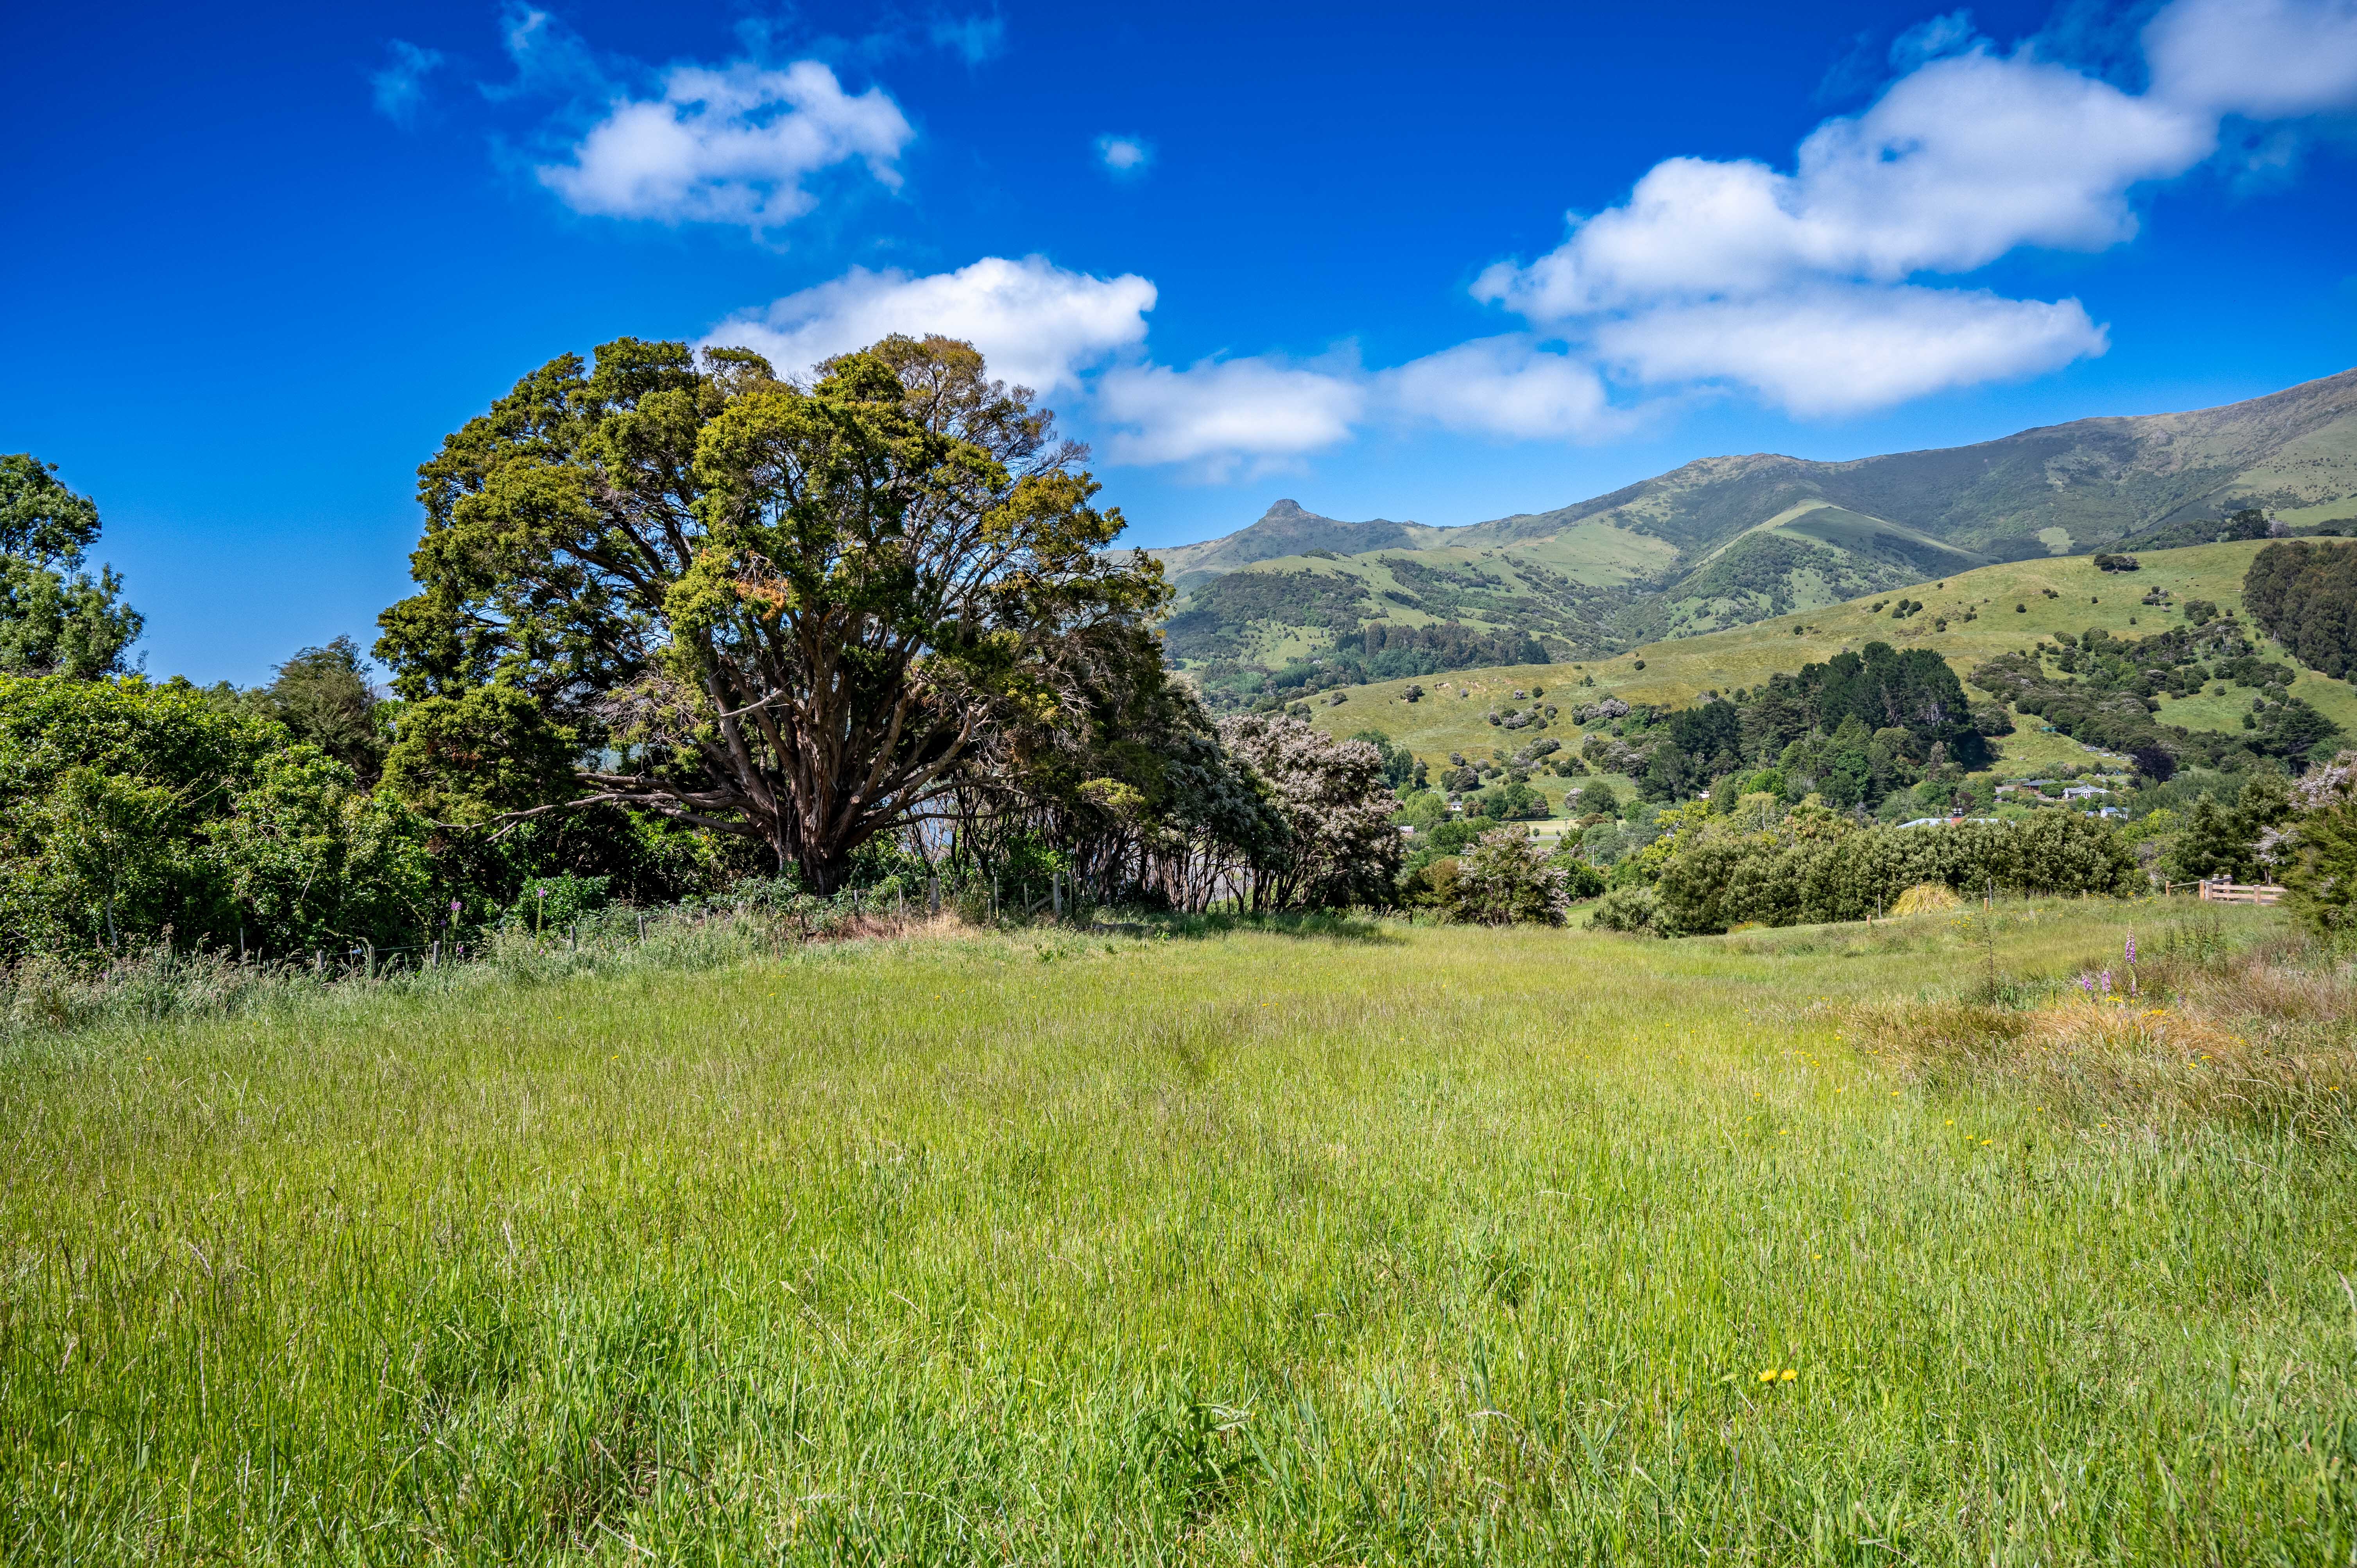
[[1266, 472], [1336, 446], [1365, 408], [1358, 377], [1277, 358], [1122, 365], [1096, 387], [1096, 410], [1115, 427], [1115, 462], [1186, 462], [1211, 476]]

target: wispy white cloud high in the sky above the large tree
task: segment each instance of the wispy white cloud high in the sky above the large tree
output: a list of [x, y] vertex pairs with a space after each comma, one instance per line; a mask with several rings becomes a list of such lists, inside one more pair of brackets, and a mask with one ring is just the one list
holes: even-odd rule
[[844, 92], [804, 59], [783, 71], [674, 66], [658, 99], [618, 99], [542, 184], [575, 212], [773, 229], [816, 198], [808, 174], [865, 160], [898, 186], [896, 158], [917, 132], [879, 87]]

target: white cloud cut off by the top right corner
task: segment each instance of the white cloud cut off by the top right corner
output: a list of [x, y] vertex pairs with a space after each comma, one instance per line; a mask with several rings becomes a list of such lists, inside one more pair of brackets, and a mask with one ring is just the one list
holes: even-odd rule
[[2152, 97], [2291, 120], [2357, 106], [2357, 0], [2178, 0], [2145, 28]]

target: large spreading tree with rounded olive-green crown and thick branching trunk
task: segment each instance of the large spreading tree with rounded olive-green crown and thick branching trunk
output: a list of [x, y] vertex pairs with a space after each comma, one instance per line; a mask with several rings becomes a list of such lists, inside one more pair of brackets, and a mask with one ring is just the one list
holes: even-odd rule
[[[1162, 573], [1105, 549], [1122, 516], [1082, 457], [943, 337], [811, 387], [676, 342], [549, 361], [420, 469], [422, 592], [377, 644], [415, 703], [389, 776], [561, 743], [570, 795], [507, 816], [622, 802], [830, 891], [995, 731], [1082, 712], [1138, 648]], [[502, 722], [547, 733], [450, 740]]]

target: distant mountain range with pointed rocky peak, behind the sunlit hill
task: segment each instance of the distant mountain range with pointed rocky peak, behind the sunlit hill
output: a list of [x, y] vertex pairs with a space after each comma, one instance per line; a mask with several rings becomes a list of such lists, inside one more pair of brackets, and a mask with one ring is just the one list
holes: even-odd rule
[[1242, 703], [1273, 674], [1299, 686], [1435, 672], [1494, 639], [1593, 660], [1942, 573], [2194, 545], [2244, 507], [2296, 533], [2357, 523], [2357, 370], [1959, 448], [1704, 457], [1466, 528], [1353, 523], [1280, 500], [1249, 528], [1155, 554], [1181, 589], [1171, 658], [1214, 703]]

